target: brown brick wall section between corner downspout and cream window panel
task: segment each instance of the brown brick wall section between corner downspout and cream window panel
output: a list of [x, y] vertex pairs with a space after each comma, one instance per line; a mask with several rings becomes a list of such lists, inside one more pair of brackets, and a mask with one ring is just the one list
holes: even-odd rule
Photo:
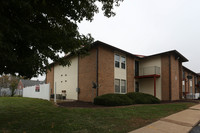
[[114, 93], [114, 51], [107, 47], [99, 46], [99, 96]]

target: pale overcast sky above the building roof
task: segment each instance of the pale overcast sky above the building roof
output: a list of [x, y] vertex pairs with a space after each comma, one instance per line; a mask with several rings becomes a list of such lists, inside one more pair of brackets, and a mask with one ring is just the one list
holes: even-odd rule
[[116, 16], [96, 14], [79, 31], [133, 54], [152, 55], [177, 50], [200, 72], [200, 0], [124, 0]]

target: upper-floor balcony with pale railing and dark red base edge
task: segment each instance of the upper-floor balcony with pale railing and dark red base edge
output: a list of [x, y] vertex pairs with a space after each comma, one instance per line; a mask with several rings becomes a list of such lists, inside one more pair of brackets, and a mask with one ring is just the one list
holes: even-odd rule
[[140, 69], [139, 74], [135, 75], [135, 78], [151, 78], [151, 77], [160, 77], [160, 67], [150, 66], [143, 67]]

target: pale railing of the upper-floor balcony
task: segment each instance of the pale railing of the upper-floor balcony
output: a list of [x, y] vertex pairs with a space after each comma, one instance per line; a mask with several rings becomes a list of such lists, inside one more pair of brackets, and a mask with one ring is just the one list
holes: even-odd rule
[[139, 76], [146, 76], [146, 75], [160, 75], [160, 67], [151, 66], [151, 67], [141, 68]]

